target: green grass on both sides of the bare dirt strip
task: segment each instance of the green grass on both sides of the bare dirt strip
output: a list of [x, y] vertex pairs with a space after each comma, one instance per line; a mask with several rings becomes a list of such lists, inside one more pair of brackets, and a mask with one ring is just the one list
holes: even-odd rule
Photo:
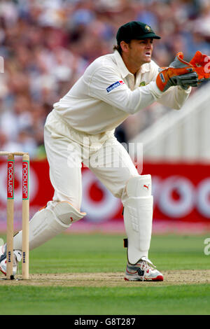
[[[204, 254], [203, 236], [154, 235], [149, 258], [160, 271], [210, 269], [210, 255]], [[91, 286], [74, 281], [71, 286], [52, 279], [52, 286], [1, 280], [0, 314], [209, 314], [209, 282], [126, 283], [94, 286], [94, 274], [123, 274], [126, 249], [121, 235], [63, 234], [30, 253], [30, 274], [92, 275]], [[70, 280], [71, 281], [71, 280]]]

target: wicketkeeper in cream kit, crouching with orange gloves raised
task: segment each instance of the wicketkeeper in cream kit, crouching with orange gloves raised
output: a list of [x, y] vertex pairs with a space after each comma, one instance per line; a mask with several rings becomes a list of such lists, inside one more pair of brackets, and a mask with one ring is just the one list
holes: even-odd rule
[[[48, 115], [45, 150], [55, 194], [31, 218], [29, 248], [41, 246], [85, 216], [80, 212], [81, 163], [88, 162], [99, 181], [123, 203], [125, 279], [162, 281], [162, 273], [148, 259], [153, 221], [151, 175], [139, 175], [130, 155], [114, 137], [114, 130], [153, 102], [181, 109], [191, 87], [209, 78], [204, 69], [209, 57], [196, 52], [186, 62], [179, 52], [169, 67], [160, 69], [151, 59], [153, 39], [160, 36], [151, 27], [128, 22], [118, 29], [116, 38], [115, 51], [95, 59]], [[15, 274], [22, 232], [13, 242]], [[6, 245], [0, 248], [0, 257], [1, 272], [6, 273]]]

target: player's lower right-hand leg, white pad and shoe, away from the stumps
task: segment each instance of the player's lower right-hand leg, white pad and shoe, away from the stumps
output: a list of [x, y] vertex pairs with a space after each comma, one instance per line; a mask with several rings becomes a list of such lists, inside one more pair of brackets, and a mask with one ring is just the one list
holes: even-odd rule
[[126, 280], [163, 280], [162, 274], [148, 260], [153, 223], [151, 187], [151, 175], [134, 176], [127, 182], [127, 200], [123, 202], [127, 233]]

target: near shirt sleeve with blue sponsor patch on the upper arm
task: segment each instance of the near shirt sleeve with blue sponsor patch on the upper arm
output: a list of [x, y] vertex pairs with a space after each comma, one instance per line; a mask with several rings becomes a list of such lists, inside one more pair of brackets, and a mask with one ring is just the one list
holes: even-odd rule
[[162, 96], [152, 81], [144, 87], [130, 90], [112, 67], [97, 68], [90, 77], [89, 96], [100, 99], [126, 113], [134, 114]]

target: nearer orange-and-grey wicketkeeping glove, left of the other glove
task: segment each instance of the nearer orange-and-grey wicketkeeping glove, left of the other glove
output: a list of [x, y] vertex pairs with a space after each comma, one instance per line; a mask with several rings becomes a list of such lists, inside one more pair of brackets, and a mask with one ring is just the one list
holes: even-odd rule
[[188, 89], [189, 86], [197, 87], [198, 77], [193, 64], [184, 61], [183, 53], [178, 52], [174, 62], [160, 71], [156, 78], [156, 84], [162, 92], [174, 85]]

